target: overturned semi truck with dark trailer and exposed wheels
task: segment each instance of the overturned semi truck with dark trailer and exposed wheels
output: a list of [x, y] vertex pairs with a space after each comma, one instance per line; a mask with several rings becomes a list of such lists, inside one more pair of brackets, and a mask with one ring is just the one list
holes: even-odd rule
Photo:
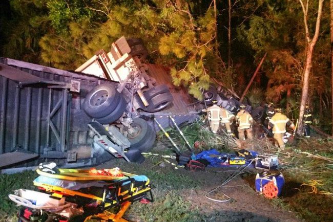
[[0, 58], [0, 169], [46, 159], [98, 164], [110, 151], [151, 149], [159, 130], [152, 115], [163, 127], [169, 115], [177, 124], [195, 119], [186, 90], [168, 69], [143, 63], [146, 55], [140, 40], [122, 37], [75, 72]]

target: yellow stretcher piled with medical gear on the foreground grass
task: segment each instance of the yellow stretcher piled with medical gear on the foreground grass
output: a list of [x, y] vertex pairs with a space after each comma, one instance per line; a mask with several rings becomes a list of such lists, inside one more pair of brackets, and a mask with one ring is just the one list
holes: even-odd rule
[[[32, 209], [36, 209], [48, 212], [49, 215], [51, 215], [50, 212], [58, 213], [63, 217], [65, 215], [65, 219], [61, 221], [87, 221], [90, 218], [99, 218], [101, 221], [124, 222], [127, 220], [122, 216], [131, 203], [154, 201], [152, 185], [147, 176], [122, 172], [118, 168], [57, 169], [55, 174], [37, 170], [37, 173], [39, 176], [33, 181], [33, 184], [43, 193], [48, 193], [53, 199], [52, 203], [55, 202], [54, 199], [58, 202], [53, 206], [50, 204], [36, 206], [31, 201], [32, 197], [22, 196], [25, 192], [23, 189], [20, 189], [20, 192], [14, 192], [16, 195], [10, 194], [12, 201], [26, 207], [19, 213], [22, 221], [35, 221], [29, 217], [34, 212]], [[33, 195], [36, 196], [37, 193]], [[28, 197], [28, 199], [24, 197]], [[62, 202], [60, 203], [60, 201]], [[66, 211], [67, 206], [75, 208], [75, 210], [68, 213], [70, 210]], [[110, 209], [119, 210], [111, 213]], [[36, 221], [44, 220], [39, 218]]]

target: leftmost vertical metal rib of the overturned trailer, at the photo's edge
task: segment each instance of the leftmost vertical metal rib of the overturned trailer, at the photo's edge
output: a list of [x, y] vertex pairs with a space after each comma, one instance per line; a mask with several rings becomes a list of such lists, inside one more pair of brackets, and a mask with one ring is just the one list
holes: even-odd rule
[[0, 114], [0, 153], [5, 150], [5, 124], [6, 124], [6, 110], [7, 110], [7, 87], [8, 79], [3, 78], [3, 89], [1, 96], [1, 114]]

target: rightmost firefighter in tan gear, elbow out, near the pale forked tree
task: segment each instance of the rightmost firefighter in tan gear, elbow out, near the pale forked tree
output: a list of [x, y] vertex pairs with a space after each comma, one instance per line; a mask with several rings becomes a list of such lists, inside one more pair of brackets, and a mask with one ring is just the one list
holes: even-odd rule
[[284, 150], [285, 145], [282, 138], [286, 132], [286, 126], [295, 130], [295, 125], [288, 117], [282, 114], [281, 108], [276, 108], [275, 112], [275, 115], [269, 120], [268, 129], [273, 128], [273, 138], [276, 140], [275, 145], [279, 146], [281, 150]]

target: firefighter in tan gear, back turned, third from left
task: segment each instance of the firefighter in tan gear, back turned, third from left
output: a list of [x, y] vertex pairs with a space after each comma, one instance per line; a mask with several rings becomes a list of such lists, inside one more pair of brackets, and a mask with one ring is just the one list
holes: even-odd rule
[[238, 138], [245, 140], [245, 131], [248, 139], [252, 139], [252, 116], [245, 110], [245, 105], [240, 105], [241, 110], [236, 115], [238, 125]]

